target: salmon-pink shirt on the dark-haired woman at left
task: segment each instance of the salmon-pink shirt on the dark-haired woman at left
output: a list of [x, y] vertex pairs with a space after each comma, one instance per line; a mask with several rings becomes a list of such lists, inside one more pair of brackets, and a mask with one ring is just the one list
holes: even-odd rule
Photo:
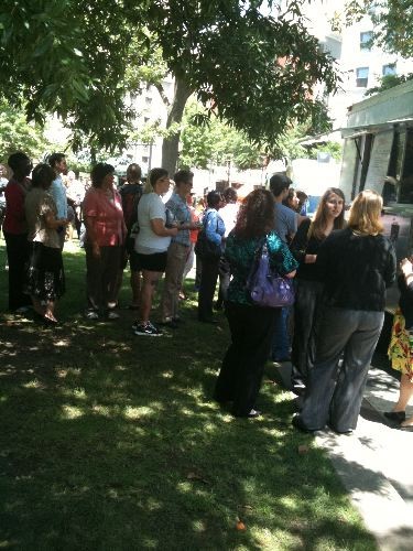
[[112, 191], [112, 199], [105, 190], [90, 187], [85, 195], [83, 212], [91, 218], [96, 242], [99, 247], [122, 245], [126, 226], [123, 222], [122, 201], [117, 191]]

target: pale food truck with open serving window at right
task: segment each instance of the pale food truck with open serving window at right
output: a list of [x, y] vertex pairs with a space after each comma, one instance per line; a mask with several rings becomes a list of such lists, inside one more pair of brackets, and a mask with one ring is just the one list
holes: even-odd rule
[[[383, 197], [385, 235], [398, 260], [413, 253], [413, 80], [382, 91], [349, 108], [340, 188], [350, 202], [362, 190]], [[387, 311], [398, 303], [398, 289], [388, 292]]]

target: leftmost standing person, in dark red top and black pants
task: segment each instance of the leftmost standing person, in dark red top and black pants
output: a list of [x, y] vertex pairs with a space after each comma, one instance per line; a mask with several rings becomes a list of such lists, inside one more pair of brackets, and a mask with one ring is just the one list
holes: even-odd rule
[[28, 176], [33, 165], [29, 156], [21, 151], [11, 154], [8, 164], [13, 171], [4, 191], [6, 216], [3, 222], [9, 262], [9, 310], [24, 312], [31, 305], [30, 296], [24, 292], [25, 268], [30, 253], [24, 198], [30, 187]]

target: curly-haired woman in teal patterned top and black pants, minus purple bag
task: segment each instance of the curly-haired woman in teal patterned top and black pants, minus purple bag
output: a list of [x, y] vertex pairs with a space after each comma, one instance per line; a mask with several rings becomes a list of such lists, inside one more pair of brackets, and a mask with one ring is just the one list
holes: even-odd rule
[[267, 236], [270, 264], [293, 278], [297, 262], [274, 231], [274, 198], [265, 190], [250, 193], [241, 206], [236, 227], [228, 236], [225, 256], [231, 267], [226, 315], [231, 344], [224, 357], [215, 388], [218, 402], [233, 401], [236, 417], [256, 418], [256, 400], [280, 309], [257, 306], [246, 289], [256, 252]]

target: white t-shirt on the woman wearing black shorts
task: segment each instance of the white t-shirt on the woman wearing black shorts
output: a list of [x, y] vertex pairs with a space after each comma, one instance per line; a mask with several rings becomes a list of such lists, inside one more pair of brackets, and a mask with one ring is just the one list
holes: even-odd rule
[[134, 241], [134, 250], [141, 255], [165, 252], [171, 237], [160, 237], [153, 230], [151, 220], [166, 220], [165, 205], [156, 193], [144, 193], [138, 205], [139, 234]]

